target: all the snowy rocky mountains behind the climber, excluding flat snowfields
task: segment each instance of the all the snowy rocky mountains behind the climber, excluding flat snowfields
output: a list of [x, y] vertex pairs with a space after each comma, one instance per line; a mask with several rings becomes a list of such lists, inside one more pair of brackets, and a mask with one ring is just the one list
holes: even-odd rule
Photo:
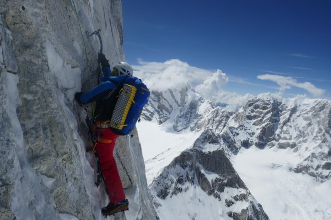
[[[143, 118], [172, 125], [172, 132], [199, 133], [181, 153], [163, 152], [145, 161], [147, 176], [153, 175], [149, 187], [159, 216], [269, 219], [231, 158], [243, 148], [291, 149], [298, 158], [291, 172], [310, 175], [317, 182], [329, 181], [330, 115], [331, 101], [325, 99], [252, 98], [230, 112], [214, 107], [189, 85], [153, 91]], [[172, 161], [160, 163], [165, 157]], [[160, 164], [164, 167], [148, 173], [148, 167]]]

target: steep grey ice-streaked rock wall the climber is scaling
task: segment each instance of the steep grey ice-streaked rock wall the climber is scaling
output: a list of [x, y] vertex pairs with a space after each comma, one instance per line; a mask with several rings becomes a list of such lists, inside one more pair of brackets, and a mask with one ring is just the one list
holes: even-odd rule
[[[2, 0], [0, 8], [0, 219], [103, 219], [86, 111], [73, 97], [97, 81], [100, 44], [85, 31], [101, 29], [111, 65], [124, 59], [121, 1]], [[115, 154], [130, 212], [114, 219], [156, 219], [137, 133], [121, 136]]]

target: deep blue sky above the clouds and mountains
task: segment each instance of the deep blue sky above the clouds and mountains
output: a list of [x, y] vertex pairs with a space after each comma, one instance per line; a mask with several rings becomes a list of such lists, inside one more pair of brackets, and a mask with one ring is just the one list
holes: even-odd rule
[[122, 7], [125, 59], [135, 67], [179, 59], [222, 70], [222, 89], [241, 95], [331, 97], [329, 0], [122, 0]]

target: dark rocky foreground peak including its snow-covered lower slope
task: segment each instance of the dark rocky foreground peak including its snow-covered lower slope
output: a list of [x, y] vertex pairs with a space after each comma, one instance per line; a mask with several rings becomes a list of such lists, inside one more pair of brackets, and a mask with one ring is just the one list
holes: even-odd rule
[[150, 190], [161, 219], [268, 219], [223, 149], [185, 150]]

